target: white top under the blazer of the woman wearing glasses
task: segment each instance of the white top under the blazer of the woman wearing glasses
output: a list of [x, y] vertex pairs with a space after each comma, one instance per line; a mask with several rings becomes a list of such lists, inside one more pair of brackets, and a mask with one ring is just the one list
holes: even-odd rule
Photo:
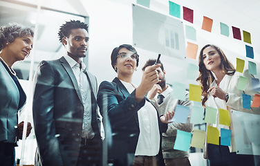
[[[120, 80], [129, 93], [136, 86]], [[160, 131], [157, 111], [151, 102], [145, 100], [145, 105], [138, 111], [140, 134], [136, 146], [135, 156], [156, 156], [160, 149]]]

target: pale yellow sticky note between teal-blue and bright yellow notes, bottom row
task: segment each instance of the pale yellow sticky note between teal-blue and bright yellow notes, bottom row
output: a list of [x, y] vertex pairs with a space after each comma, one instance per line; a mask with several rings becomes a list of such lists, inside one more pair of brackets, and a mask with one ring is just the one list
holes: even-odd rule
[[192, 135], [192, 142], [190, 143], [190, 146], [203, 149], [205, 138], [206, 138], [206, 131], [194, 129]]

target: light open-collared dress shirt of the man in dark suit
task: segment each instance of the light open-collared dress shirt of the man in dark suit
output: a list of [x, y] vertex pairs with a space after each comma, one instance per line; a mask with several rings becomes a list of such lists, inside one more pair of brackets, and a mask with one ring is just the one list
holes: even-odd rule
[[80, 64], [75, 62], [70, 56], [64, 55], [64, 58], [73, 70], [82, 96], [82, 103], [84, 105], [82, 138], [91, 139], [95, 136], [95, 133], [91, 127], [91, 87], [85, 73], [86, 65], [84, 62], [81, 62], [82, 67], [80, 68]]

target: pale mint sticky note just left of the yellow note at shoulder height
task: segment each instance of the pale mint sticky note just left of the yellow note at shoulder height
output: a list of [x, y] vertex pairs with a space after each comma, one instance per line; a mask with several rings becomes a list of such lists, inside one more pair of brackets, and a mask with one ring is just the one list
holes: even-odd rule
[[178, 100], [184, 100], [185, 101], [185, 84], [182, 84], [180, 82], [174, 82], [172, 84], [172, 97], [176, 98]]

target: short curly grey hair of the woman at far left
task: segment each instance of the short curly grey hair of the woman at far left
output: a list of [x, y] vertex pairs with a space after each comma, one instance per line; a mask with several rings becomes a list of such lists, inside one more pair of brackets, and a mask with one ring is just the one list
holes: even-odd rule
[[32, 28], [22, 26], [17, 23], [9, 23], [6, 26], [0, 27], [0, 50], [2, 50], [6, 44], [11, 44], [17, 37], [33, 37], [34, 32]]

